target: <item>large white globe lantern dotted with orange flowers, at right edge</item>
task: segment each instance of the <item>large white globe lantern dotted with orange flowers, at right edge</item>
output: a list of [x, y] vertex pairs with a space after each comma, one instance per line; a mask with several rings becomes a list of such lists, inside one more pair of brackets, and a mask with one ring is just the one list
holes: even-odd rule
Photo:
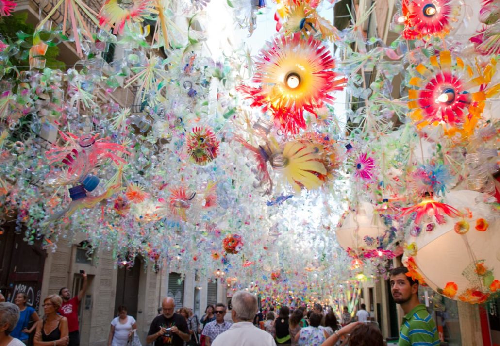
[[446, 201], [462, 216], [408, 239], [403, 262], [450, 299], [482, 303], [500, 290], [500, 221], [483, 198], [476, 191], [448, 192]]

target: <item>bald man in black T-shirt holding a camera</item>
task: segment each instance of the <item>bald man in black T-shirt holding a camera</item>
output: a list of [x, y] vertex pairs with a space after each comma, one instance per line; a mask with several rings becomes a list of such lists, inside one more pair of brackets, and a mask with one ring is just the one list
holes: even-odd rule
[[184, 317], [173, 312], [175, 302], [172, 298], [163, 298], [161, 314], [154, 317], [146, 336], [146, 343], [154, 341], [154, 346], [183, 346], [189, 341], [189, 329]]

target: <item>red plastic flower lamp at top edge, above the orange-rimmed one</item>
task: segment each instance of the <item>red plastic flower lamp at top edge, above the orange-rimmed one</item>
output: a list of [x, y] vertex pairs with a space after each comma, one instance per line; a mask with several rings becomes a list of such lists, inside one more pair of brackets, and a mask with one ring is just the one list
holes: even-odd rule
[[443, 38], [458, 22], [459, 14], [460, 3], [455, 0], [403, 0], [396, 21], [404, 23], [405, 39]]

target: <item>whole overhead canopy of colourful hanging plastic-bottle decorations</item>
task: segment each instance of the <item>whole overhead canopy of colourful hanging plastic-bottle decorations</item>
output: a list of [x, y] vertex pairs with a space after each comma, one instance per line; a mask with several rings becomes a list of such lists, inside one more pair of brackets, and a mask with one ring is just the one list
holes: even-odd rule
[[335, 2], [60, 0], [30, 27], [0, 0], [0, 223], [350, 309], [404, 252], [437, 292], [488, 299], [500, 3], [402, 0], [387, 43], [373, 7], [336, 28]]

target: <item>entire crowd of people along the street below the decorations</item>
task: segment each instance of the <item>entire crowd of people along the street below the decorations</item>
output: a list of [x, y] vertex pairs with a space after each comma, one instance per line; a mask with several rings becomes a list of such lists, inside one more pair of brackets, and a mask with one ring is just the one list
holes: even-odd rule
[[[406, 274], [405, 267], [395, 268], [389, 281], [394, 301], [404, 311], [398, 345], [439, 345], [435, 323], [418, 300], [418, 281]], [[23, 293], [15, 295], [14, 303], [0, 302], [0, 346], [26, 345], [34, 330], [34, 346], [78, 346], [76, 311], [86, 290], [86, 274], [82, 275], [82, 288], [73, 298], [63, 287], [58, 295], [50, 294], [43, 299], [42, 318], [32, 307], [26, 306], [27, 297]], [[160, 313], [151, 321], [145, 342], [154, 343], [154, 346], [385, 344], [364, 304], [354, 318], [347, 307], [337, 318], [330, 307], [323, 309], [320, 304], [314, 304], [307, 310], [300, 302], [293, 304], [292, 309], [282, 305], [276, 314], [273, 306], [258, 309], [257, 297], [241, 290], [233, 294], [231, 305], [229, 309], [223, 303], [208, 305], [198, 319], [190, 308], [175, 309], [174, 299], [165, 297]], [[117, 312], [118, 316], [111, 321], [108, 346], [140, 346], [135, 319], [127, 314], [124, 305], [118, 306]], [[30, 321], [33, 322], [31, 326]]]

